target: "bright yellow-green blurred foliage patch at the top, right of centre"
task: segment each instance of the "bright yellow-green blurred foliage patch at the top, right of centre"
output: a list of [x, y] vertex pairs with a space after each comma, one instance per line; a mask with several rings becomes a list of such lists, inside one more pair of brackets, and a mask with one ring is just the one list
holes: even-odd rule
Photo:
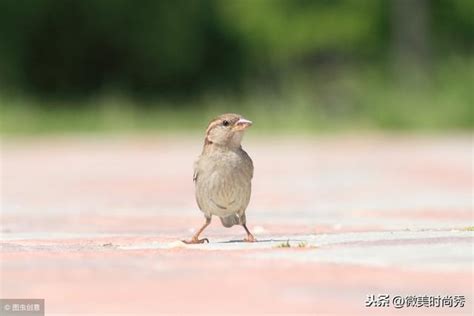
[[256, 62], [287, 63], [318, 53], [354, 53], [373, 46], [380, 2], [218, 2]]

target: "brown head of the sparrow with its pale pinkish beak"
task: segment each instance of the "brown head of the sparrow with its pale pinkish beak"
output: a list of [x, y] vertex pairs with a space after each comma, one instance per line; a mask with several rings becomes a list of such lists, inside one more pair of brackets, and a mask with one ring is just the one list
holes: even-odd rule
[[244, 131], [252, 122], [239, 114], [222, 114], [211, 122], [206, 130], [205, 145], [216, 144], [230, 148], [240, 147]]

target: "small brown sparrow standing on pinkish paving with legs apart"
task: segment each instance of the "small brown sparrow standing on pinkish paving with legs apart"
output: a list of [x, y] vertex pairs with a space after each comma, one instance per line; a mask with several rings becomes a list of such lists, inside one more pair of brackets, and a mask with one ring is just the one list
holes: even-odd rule
[[206, 222], [185, 243], [209, 242], [207, 238], [199, 239], [199, 235], [211, 223], [212, 215], [218, 216], [225, 227], [242, 225], [247, 232], [244, 241], [255, 241], [245, 218], [245, 209], [250, 201], [253, 163], [240, 144], [245, 129], [251, 125], [251, 121], [233, 113], [223, 114], [209, 123], [202, 153], [194, 164], [193, 176], [196, 201]]

